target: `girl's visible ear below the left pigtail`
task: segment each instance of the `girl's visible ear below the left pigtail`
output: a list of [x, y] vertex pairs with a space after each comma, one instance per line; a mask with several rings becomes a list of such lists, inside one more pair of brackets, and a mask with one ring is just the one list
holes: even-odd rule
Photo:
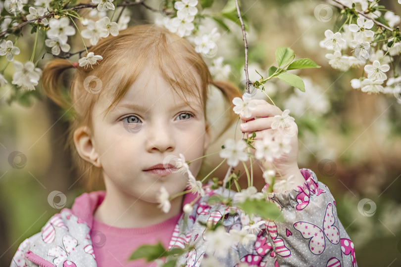
[[74, 143], [81, 158], [98, 168], [101, 167], [99, 155], [96, 152], [95, 143], [92, 138], [92, 132], [88, 126], [79, 127], [74, 131]]

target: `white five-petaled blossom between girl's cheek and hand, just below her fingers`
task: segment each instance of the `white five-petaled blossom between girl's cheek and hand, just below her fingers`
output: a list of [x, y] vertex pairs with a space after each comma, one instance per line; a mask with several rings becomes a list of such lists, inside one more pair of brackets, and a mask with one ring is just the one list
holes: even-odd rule
[[235, 167], [240, 161], [248, 160], [245, 148], [247, 148], [247, 143], [243, 139], [236, 142], [234, 139], [228, 138], [224, 142], [224, 149], [220, 151], [220, 157], [226, 158], [227, 164]]

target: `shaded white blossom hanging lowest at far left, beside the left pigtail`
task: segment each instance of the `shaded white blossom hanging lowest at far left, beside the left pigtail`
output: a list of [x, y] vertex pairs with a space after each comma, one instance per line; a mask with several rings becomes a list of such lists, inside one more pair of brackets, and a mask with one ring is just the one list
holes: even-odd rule
[[38, 81], [42, 75], [40, 68], [35, 68], [33, 62], [28, 61], [25, 64], [14, 60], [15, 73], [12, 76], [11, 84], [21, 87], [21, 90], [35, 90]]

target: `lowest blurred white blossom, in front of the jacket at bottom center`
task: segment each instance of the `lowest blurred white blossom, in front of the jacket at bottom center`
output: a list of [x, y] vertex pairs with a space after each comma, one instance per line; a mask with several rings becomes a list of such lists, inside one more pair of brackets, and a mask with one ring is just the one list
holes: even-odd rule
[[227, 255], [231, 245], [235, 242], [222, 225], [214, 231], [206, 230], [204, 237], [206, 239], [206, 254], [210, 256], [214, 254], [221, 258]]

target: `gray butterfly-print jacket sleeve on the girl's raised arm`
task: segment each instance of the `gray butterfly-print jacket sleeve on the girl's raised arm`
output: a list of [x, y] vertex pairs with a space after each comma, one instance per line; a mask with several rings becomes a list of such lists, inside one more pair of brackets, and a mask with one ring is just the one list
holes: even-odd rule
[[354, 245], [338, 218], [329, 188], [313, 171], [300, 171], [305, 178], [301, 186], [269, 194], [285, 221], [269, 221], [259, 234], [269, 244], [266, 248], [271, 248], [259, 266], [273, 258], [274, 266], [280, 267], [357, 267]]

